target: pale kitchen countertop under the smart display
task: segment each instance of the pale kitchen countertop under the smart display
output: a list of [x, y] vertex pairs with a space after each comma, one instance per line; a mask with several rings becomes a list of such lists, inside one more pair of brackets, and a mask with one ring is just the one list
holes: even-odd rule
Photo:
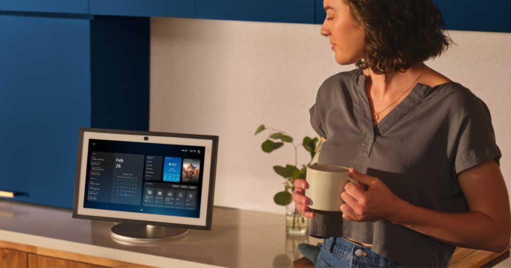
[[[284, 210], [284, 208], [283, 208]], [[190, 229], [185, 238], [125, 245], [110, 237], [111, 222], [72, 218], [72, 211], [0, 200], [0, 240], [151, 266], [291, 267], [302, 257], [285, 216], [215, 207], [211, 231]]]

